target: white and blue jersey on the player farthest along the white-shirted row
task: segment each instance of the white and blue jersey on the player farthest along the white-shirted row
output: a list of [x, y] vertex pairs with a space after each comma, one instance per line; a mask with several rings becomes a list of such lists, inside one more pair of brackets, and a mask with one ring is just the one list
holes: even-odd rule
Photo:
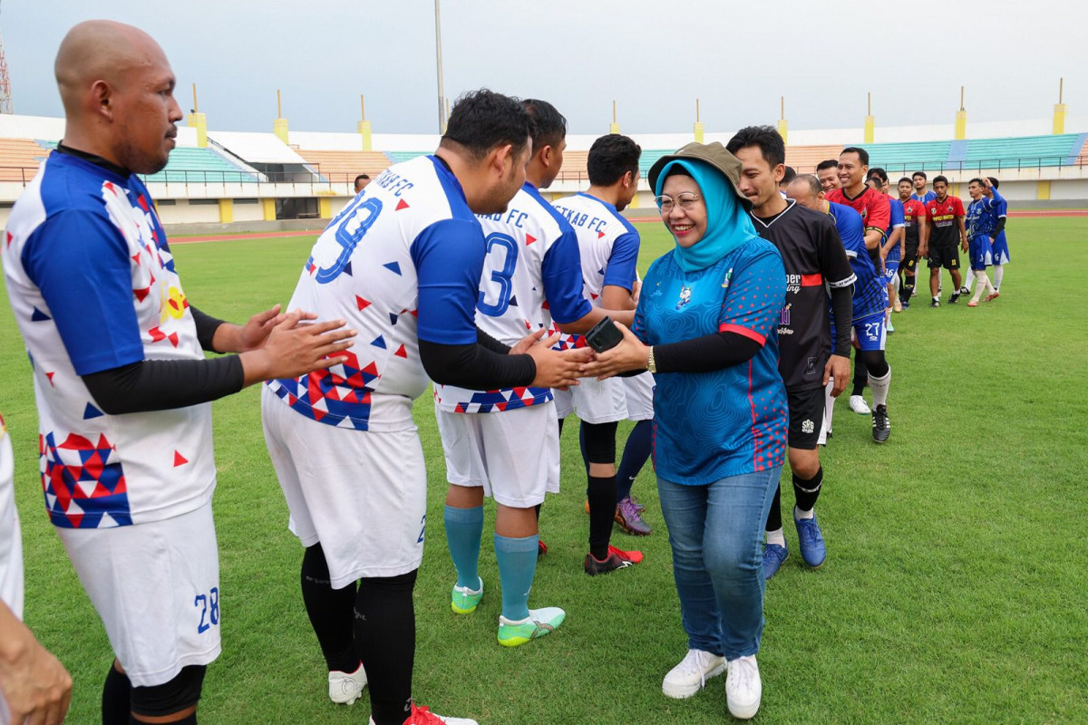
[[[638, 274], [639, 233], [616, 208], [588, 193], [576, 193], [553, 202], [570, 222], [578, 237], [582, 260], [582, 293], [595, 308], [606, 285], [631, 291]], [[559, 347], [582, 347], [581, 335], [564, 335]]]

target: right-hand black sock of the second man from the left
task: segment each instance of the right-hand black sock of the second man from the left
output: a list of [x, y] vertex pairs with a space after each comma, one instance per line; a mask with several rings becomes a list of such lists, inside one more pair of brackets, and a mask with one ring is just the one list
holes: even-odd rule
[[367, 670], [370, 712], [376, 725], [401, 725], [411, 709], [416, 661], [412, 588], [419, 570], [359, 580], [355, 641]]

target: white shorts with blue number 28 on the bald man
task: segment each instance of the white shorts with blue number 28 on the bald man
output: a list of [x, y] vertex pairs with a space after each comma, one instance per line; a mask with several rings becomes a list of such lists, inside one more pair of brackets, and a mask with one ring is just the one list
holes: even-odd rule
[[163, 685], [220, 651], [219, 553], [211, 502], [164, 521], [58, 528], [134, 686]]

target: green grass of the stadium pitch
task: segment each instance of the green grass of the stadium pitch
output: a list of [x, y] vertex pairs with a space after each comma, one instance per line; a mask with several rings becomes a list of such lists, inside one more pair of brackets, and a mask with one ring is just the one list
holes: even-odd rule
[[[658, 225], [640, 226], [645, 272], [670, 242]], [[761, 721], [1088, 721], [1088, 333], [1079, 291], [1088, 218], [1010, 226], [1015, 261], [1000, 300], [929, 310], [923, 295], [895, 316], [891, 441], [878, 448], [869, 418], [838, 405], [818, 505], [829, 557], [806, 571], [787, 532], [792, 555], [767, 589]], [[175, 254], [194, 303], [240, 321], [286, 302], [311, 240], [177, 245]], [[70, 722], [94, 723], [109, 646], [42, 511], [30, 371], [9, 311], [0, 313], [0, 365], [26, 546], [26, 618], [75, 679]], [[347, 709], [325, 696], [298, 591], [301, 549], [286, 528], [257, 392], [215, 403], [223, 655], [209, 670], [201, 721], [364, 722], [366, 702]], [[431, 521], [416, 588], [422, 703], [484, 725], [726, 718], [720, 680], [688, 701], [660, 695], [685, 637], [648, 466], [635, 492], [654, 535], [615, 537], [641, 548], [645, 563], [591, 579], [581, 571], [584, 479], [568, 427], [564, 491], [542, 518], [551, 552], [531, 599], [564, 607], [568, 618], [546, 639], [508, 650], [495, 642], [500, 599], [490, 537], [481, 562], [489, 593], [472, 615], [449, 611], [445, 471], [428, 396], [416, 420]]]

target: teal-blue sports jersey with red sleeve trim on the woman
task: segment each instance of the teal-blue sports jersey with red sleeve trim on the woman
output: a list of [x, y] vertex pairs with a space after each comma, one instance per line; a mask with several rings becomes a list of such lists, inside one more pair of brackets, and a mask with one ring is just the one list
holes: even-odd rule
[[680, 268], [672, 252], [650, 266], [632, 326], [643, 342], [667, 345], [730, 332], [762, 345], [738, 365], [655, 374], [658, 476], [697, 486], [782, 465], [787, 412], [778, 321], [784, 301], [786, 267], [764, 239], [696, 272]]

